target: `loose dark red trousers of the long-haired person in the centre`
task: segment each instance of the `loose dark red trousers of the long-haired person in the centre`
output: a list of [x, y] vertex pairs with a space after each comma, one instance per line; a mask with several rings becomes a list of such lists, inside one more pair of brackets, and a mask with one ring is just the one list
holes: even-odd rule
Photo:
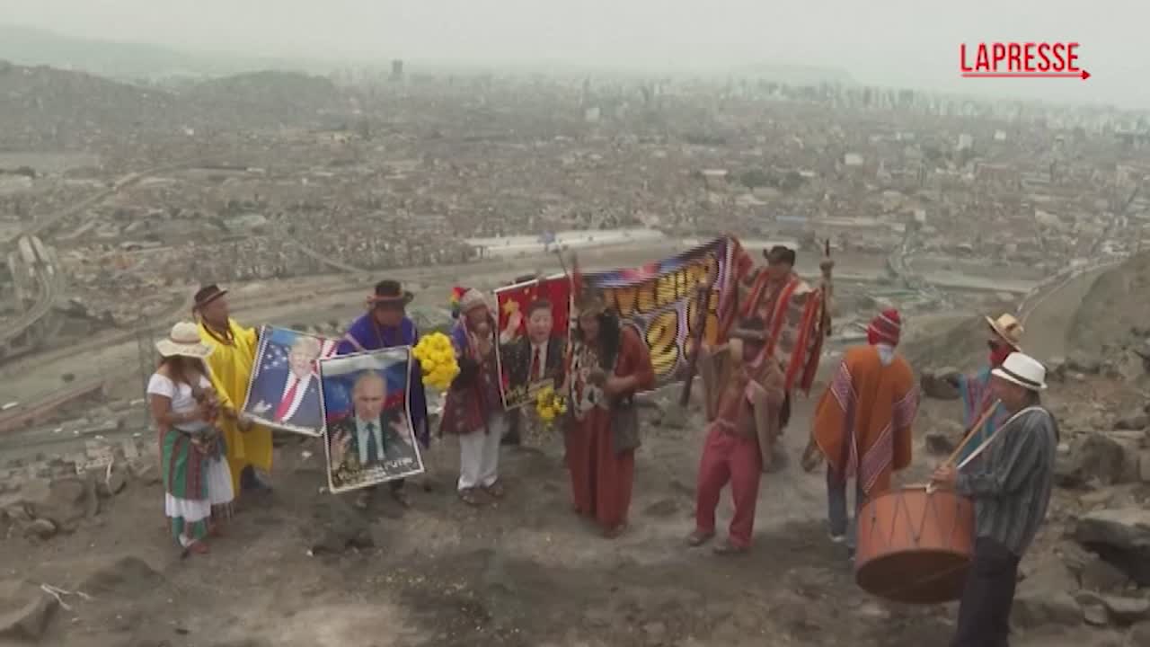
[[627, 522], [635, 484], [635, 451], [615, 454], [610, 413], [593, 410], [567, 433], [567, 467], [575, 511], [605, 530]]

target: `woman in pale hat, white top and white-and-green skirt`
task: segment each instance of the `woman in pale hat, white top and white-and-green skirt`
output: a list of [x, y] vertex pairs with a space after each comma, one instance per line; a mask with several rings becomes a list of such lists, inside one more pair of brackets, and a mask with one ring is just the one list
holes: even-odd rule
[[231, 473], [217, 433], [212, 382], [194, 324], [182, 321], [155, 343], [163, 359], [148, 380], [148, 405], [160, 429], [160, 466], [164, 512], [184, 555], [207, 553], [205, 540], [217, 534], [235, 497]]

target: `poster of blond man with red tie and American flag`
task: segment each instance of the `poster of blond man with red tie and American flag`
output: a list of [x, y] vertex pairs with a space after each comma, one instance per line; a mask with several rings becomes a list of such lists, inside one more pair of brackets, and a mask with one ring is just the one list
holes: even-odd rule
[[336, 345], [336, 340], [264, 326], [244, 413], [276, 429], [322, 434], [319, 361], [334, 356]]

